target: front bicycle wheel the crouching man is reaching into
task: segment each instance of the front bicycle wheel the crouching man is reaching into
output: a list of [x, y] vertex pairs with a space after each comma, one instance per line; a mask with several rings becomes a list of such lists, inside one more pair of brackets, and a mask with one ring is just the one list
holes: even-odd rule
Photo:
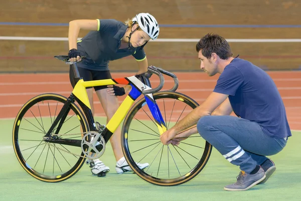
[[[178, 92], [163, 91], [153, 96], [167, 129], [198, 106], [193, 99]], [[206, 165], [212, 146], [199, 134], [181, 141], [179, 146], [163, 145], [154, 118], [145, 105], [145, 98], [140, 99], [123, 123], [121, 143], [129, 166], [139, 177], [156, 185], [172, 186], [191, 180]], [[141, 170], [136, 162], [147, 162], [149, 166]]]

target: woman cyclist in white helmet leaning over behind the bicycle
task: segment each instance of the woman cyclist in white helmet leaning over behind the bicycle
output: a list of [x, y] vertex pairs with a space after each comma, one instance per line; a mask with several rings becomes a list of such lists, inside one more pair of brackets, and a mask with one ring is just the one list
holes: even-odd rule
[[[80, 41], [77, 41], [79, 31], [91, 30]], [[147, 59], [143, 50], [144, 45], [150, 40], [156, 40], [160, 28], [157, 20], [148, 13], [139, 13], [134, 18], [128, 19], [125, 24], [120, 21], [107, 20], [74, 20], [69, 23], [69, 53], [71, 61], [81, 61], [80, 56], [85, 56], [78, 63], [80, 76], [84, 81], [110, 79], [109, 61], [132, 55], [138, 64], [137, 74], [147, 71]], [[70, 67], [70, 82], [74, 87], [74, 74]], [[107, 117], [107, 122], [118, 109], [116, 95], [123, 95], [130, 90], [130, 86], [118, 87], [115, 85], [95, 86], [94, 90]], [[87, 94], [94, 115], [93, 88], [87, 87]], [[116, 159], [116, 172], [132, 171], [124, 159], [121, 149], [121, 129], [114, 132], [110, 143]], [[93, 175], [104, 176], [109, 171], [99, 159], [89, 161]], [[137, 163], [141, 169], [148, 163]]]

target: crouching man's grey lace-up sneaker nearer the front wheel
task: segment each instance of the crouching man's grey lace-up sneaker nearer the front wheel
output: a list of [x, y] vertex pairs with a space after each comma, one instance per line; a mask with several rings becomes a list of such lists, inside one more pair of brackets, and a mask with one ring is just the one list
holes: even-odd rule
[[265, 178], [264, 170], [260, 167], [257, 173], [247, 174], [241, 171], [237, 176], [236, 183], [226, 185], [225, 190], [228, 191], [242, 191], [251, 188]]

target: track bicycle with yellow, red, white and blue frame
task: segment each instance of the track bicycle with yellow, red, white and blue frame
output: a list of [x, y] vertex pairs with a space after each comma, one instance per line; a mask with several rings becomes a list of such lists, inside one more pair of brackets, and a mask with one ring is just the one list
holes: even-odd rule
[[[130, 77], [83, 81], [76, 63], [71, 63], [68, 56], [55, 58], [71, 64], [76, 75], [70, 96], [37, 95], [21, 108], [14, 123], [14, 151], [31, 176], [45, 182], [72, 177], [85, 161], [88, 164], [104, 153], [105, 144], [123, 120], [124, 157], [134, 173], [145, 181], [162, 186], [179, 185], [202, 171], [212, 146], [199, 134], [190, 136], [179, 146], [166, 146], [160, 141], [160, 134], [198, 106], [187, 95], [176, 92], [179, 81], [175, 74], [149, 66], [146, 73]], [[155, 88], [149, 79], [153, 74], [160, 79]], [[160, 91], [165, 82], [163, 74], [173, 78], [172, 89]], [[110, 84], [129, 84], [131, 90], [107, 125], [101, 125], [94, 122], [85, 87]], [[144, 97], [137, 100], [141, 94]], [[144, 110], [145, 105], [148, 110]], [[179, 117], [174, 118], [175, 114]], [[136, 165], [142, 160], [151, 162], [144, 170]]]

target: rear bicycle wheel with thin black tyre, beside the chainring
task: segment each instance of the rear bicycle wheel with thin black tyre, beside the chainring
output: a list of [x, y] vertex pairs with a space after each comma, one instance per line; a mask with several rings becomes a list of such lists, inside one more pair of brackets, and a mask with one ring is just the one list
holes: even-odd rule
[[[56, 144], [43, 139], [61, 111], [67, 98], [59, 94], [41, 94], [30, 99], [18, 113], [13, 128], [14, 151], [21, 166], [30, 175], [46, 182], [63, 181], [73, 176], [84, 164], [81, 147]], [[71, 103], [58, 140], [82, 139], [82, 132], [88, 131], [86, 117], [74, 103]], [[68, 135], [68, 134], [78, 134]]]

